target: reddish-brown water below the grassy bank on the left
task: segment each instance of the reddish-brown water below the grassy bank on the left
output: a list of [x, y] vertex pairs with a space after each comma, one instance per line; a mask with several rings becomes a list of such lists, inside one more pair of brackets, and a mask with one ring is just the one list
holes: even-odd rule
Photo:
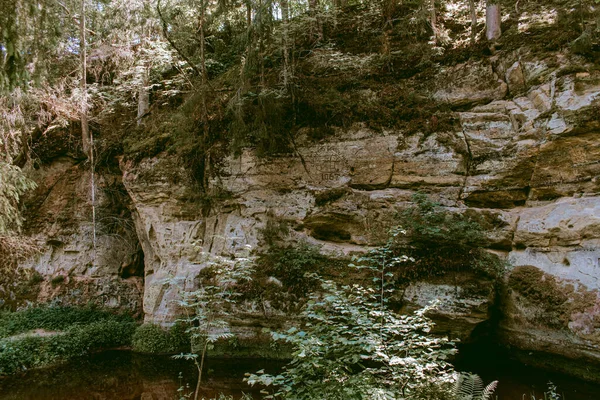
[[[244, 373], [280, 366], [261, 360], [210, 360], [201, 396], [210, 398], [220, 392], [236, 397], [242, 392], [257, 395], [257, 389], [242, 382]], [[189, 361], [107, 351], [0, 379], [0, 400], [172, 400], [178, 398], [180, 386], [194, 388], [195, 377]]]

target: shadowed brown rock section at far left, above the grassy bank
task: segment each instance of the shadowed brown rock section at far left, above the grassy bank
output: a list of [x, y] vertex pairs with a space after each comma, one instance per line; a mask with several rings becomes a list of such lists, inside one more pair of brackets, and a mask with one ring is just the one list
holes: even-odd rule
[[44, 251], [22, 265], [39, 276], [30, 282], [37, 294], [30, 300], [93, 303], [139, 314], [143, 254], [126, 205], [121, 204], [127, 199], [121, 176], [102, 175], [96, 182], [95, 232], [87, 168], [58, 158], [36, 171], [36, 177], [27, 228]]

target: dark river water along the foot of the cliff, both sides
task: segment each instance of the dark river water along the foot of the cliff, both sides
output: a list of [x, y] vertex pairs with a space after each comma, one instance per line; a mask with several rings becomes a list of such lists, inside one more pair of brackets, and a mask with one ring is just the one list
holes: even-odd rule
[[[600, 400], [600, 385], [529, 368], [498, 356], [480, 365], [472, 365], [468, 360], [462, 364], [461, 368], [475, 370], [486, 383], [499, 380], [496, 392], [499, 400], [531, 400], [532, 394], [538, 400], [544, 399], [548, 380], [558, 386], [564, 400]], [[244, 373], [262, 368], [276, 372], [282, 365], [261, 360], [209, 360], [202, 396], [210, 398], [223, 392], [239, 397], [245, 392], [258, 399], [258, 390], [242, 382]], [[106, 351], [57, 367], [0, 379], [0, 400], [173, 400], [178, 398], [179, 387], [185, 387], [186, 383], [194, 386], [194, 377], [195, 369], [189, 361]]]

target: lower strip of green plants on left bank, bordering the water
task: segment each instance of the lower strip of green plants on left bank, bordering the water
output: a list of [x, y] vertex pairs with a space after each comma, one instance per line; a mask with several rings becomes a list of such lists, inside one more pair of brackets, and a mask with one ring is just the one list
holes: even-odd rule
[[90, 352], [131, 344], [133, 322], [104, 320], [72, 325], [47, 336], [23, 335], [0, 339], [0, 375], [42, 367]]

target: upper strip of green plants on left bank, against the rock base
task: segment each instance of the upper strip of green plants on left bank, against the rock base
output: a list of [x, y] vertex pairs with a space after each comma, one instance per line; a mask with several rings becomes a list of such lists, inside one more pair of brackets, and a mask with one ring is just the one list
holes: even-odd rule
[[34, 329], [63, 331], [74, 325], [93, 322], [133, 323], [128, 315], [117, 315], [95, 307], [32, 307], [17, 312], [0, 314], [0, 338], [25, 333]]

